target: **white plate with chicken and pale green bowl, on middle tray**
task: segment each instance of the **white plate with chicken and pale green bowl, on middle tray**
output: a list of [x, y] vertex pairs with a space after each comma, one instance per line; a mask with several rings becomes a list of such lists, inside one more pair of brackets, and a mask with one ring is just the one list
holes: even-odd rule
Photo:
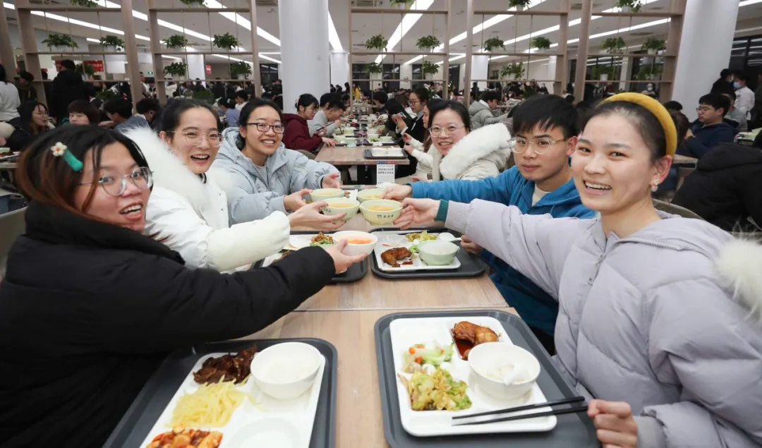
[[378, 244], [373, 250], [376, 264], [386, 272], [453, 270], [460, 267], [459, 246], [439, 238], [439, 233], [373, 232]]

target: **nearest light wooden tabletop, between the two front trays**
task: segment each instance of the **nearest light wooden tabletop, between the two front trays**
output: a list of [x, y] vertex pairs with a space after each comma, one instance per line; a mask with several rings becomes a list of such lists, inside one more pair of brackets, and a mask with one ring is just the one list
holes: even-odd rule
[[[411, 296], [411, 301], [415, 299]], [[507, 306], [493, 309], [514, 312]], [[336, 448], [386, 448], [373, 325], [393, 312], [398, 310], [292, 312], [245, 339], [319, 338], [334, 344], [338, 351]]]

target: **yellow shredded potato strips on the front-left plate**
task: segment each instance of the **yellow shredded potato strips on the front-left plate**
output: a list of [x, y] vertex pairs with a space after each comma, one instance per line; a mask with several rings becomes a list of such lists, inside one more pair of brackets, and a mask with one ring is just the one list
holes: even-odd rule
[[178, 399], [168, 426], [223, 427], [244, 400], [244, 393], [232, 382], [203, 384], [192, 394]]

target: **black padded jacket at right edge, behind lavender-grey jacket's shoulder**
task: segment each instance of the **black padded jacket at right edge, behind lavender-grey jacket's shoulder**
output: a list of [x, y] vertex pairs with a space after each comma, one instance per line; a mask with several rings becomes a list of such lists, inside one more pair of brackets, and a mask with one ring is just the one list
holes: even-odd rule
[[759, 232], [762, 150], [736, 143], [716, 146], [699, 159], [696, 170], [685, 178], [672, 203], [728, 232]]

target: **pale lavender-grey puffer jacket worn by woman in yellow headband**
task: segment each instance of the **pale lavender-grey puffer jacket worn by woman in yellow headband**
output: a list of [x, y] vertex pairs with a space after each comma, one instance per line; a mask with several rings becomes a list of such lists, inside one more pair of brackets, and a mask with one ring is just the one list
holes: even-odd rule
[[618, 238], [597, 218], [449, 206], [450, 229], [559, 299], [559, 366], [588, 398], [628, 402], [639, 446], [760, 446], [762, 247], [666, 213]]

